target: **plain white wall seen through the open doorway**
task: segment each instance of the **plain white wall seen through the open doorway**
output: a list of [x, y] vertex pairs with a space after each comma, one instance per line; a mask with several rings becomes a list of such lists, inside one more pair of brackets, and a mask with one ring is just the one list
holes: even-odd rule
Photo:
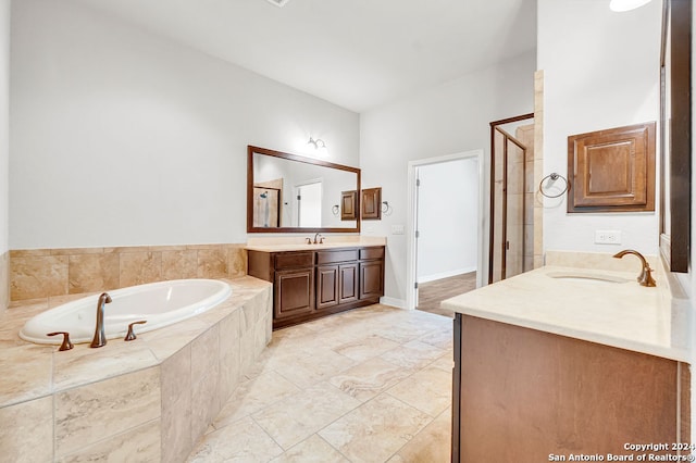
[[418, 168], [417, 280], [431, 281], [476, 270], [478, 160]]

